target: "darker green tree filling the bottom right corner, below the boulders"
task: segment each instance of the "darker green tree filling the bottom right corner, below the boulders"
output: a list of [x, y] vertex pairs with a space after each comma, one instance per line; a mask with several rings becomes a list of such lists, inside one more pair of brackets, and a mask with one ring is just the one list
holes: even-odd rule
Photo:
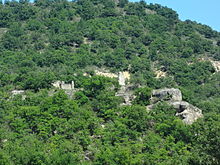
[[195, 152], [192, 163], [219, 164], [219, 123], [219, 114], [211, 113], [193, 125]]

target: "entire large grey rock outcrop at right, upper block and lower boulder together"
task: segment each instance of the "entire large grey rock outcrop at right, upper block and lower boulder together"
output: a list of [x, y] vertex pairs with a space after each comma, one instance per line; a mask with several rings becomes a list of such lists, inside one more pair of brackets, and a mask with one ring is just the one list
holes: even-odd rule
[[165, 88], [153, 90], [151, 105], [147, 109], [151, 110], [158, 102], [165, 101], [176, 109], [176, 116], [179, 116], [184, 123], [192, 124], [197, 119], [203, 117], [202, 110], [182, 101], [182, 93], [179, 89]]

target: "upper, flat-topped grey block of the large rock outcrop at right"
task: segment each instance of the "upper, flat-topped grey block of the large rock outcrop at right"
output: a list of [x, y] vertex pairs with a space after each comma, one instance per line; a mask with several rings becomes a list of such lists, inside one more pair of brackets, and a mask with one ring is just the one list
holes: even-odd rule
[[182, 101], [182, 93], [179, 89], [174, 88], [153, 90], [151, 101], [152, 103], [158, 101]]

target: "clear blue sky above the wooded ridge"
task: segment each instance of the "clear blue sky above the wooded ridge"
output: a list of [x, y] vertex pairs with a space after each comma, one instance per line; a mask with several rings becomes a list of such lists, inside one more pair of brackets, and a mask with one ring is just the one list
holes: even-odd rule
[[172, 8], [177, 11], [181, 20], [190, 19], [220, 32], [220, 0], [146, 0], [146, 2]]

